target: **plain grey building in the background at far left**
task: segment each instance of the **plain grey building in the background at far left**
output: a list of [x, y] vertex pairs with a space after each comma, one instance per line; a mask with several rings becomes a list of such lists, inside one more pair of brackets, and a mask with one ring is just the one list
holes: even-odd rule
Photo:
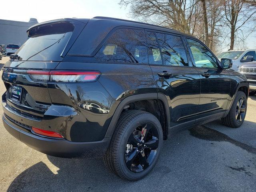
[[21, 46], [28, 38], [27, 29], [36, 23], [35, 18], [30, 18], [29, 22], [0, 19], [0, 44]]

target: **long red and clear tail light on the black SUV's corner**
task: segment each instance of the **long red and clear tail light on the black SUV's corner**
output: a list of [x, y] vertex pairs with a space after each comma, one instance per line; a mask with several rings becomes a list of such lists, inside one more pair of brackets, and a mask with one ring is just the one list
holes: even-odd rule
[[28, 70], [32, 80], [50, 82], [90, 82], [100, 76], [99, 71], [41, 71]]

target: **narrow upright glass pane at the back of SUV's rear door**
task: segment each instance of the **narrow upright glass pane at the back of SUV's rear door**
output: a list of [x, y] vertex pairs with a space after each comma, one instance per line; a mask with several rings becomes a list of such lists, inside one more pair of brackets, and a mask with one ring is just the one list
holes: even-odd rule
[[162, 64], [160, 49], [156, 40], [154, 32], [147, 32], [148, 42], [148, 63], [149, 64]]

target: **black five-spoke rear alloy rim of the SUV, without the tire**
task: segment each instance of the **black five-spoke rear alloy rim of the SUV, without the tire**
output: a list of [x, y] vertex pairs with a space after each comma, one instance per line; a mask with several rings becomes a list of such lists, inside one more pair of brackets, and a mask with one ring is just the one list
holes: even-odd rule
[[142, 123], [134, 128], [124, 152], [129, 170], [141, 172], [150, 166], [158, 150], [158, 138], [158, 131], [151, 123]]

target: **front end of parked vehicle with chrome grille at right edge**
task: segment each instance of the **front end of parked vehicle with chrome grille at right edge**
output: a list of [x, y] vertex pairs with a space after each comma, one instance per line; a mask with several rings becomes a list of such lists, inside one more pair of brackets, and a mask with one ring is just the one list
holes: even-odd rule
[[249, 95], [256, 94], [256, 64], [245, 64], [242, 65], [238, 72], [244, 74], [249, 82], [250, 85], [250, 92]]

